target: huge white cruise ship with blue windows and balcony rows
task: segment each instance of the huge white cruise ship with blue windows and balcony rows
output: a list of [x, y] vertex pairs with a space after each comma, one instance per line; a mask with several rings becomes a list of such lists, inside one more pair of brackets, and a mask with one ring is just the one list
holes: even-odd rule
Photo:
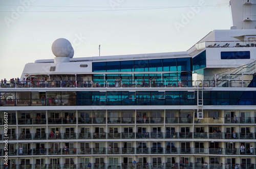
[[54, 41], [1, 82], [1, 167], [256, 168], [256, 1], [230, 5], [231, 29], [184, 52], [73, 58]]

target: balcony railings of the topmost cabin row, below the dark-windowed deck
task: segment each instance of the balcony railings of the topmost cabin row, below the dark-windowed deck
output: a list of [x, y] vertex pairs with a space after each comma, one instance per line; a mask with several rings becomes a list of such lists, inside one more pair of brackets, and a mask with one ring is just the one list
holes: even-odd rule
[[[18, 125], [46, 125], [46, 124], [164, 124], [164, 117], [146, 117], [143, 119], [134, 117], [89, 117], [80, 118], [19, 118]], [[4, 119], [0, 119], [4, 124]], [[165, 117], [165, 124], [192, 124], [193, 117]], [[195, 124], [256, 124], [256, 117], [204, 117], [203, 119], [195, 118]], [[8, 119], [8, 125], [16, 125], [16, 119]]]

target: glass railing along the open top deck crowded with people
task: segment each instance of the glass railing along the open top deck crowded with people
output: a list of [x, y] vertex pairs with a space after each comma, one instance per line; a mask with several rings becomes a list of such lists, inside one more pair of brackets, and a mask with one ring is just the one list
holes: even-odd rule
[[[221, 79], [220, 81], [216, 82], [213, 80], [195, 80], [195, 81], [156, 81], [155, 83], [153, 81], [145, 81], [143, 83], [142, 81], [119, 81], [118, 85], [115, 85], [116, 82], [110, 82], [110, 81], [75, 81], [72, 85], [63, 85], [63, 81], [42, 81], [41, 85], [31, 84], [30, 81], [25, 81], [28, 83], [27, 85], [20, 85], [20, 82], [12, 82], [7, 81], [5, 84], [0, 84], [0, 88], [159, 88], [159, 87], [166, 87], [166, 88], [172, 88], [172, 87], [246, 87], [246, 84], [249, 84], [250, 81], [239, 81], [239, 79], [230, 79], [230, 85], [220, 86], [219, 83], [223, 82], [225, 79]], [[240, 82], [243, 82], [243, 84], [240, 84]], [[54, 83], [54, 85], [51, 85]], [[246, 84], [245, 84], [246, 83]], [[24, 104], [23, 102], [20, 102], [20, 104]], [[36, 104], [45, 104], [41, 103], [40, 99], [35, 99], [32, 103], [33, 105]]]

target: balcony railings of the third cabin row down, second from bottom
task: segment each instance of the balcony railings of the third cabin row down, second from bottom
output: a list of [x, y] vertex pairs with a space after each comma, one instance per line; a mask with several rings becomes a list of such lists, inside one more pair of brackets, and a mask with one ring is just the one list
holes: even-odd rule
[[[2, 150], [2, 156], [4, 151]], [[216, 155], [255, 155], [255, 149], [222, 149], [222, 148], [87, 148], [76, 149], [26, 149], [9, 150], [9, 156], [39, 155], [95, 155], [95, 154], [216, 154]]]

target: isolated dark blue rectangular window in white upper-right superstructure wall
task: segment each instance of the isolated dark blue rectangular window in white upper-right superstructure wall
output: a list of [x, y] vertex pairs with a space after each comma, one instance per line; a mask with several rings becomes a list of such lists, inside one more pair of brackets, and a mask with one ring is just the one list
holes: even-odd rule
[[250, 52], [221, 52], [221, 59], [250, 59]]

